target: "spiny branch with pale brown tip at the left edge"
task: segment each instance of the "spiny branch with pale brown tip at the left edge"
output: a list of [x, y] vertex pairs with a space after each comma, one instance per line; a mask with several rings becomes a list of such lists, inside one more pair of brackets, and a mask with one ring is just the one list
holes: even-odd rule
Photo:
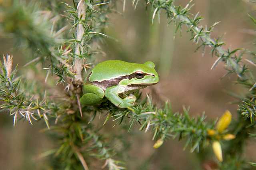
[[[29, 121], [32, 125], [32, 119], [38, 121], [44, 119], [47, 127], [49, 127], [48, 116], [57, 113], [59, 108], [51, 101], [46, 99], [46, 93], [44, 97], [35, 98], [32, 95], [32, 91], [29, 91], [30, 95], [25, 95], [21, 91], [20, 79], [15, 77], [16, 68], [12, 70], [12, 56], [7, 55], [7, 59], [4, 57], [4, 65], [0, 62], [0, 101], [3, 103], [0, 105], [0, 109], [6, 109], [13, 115], [13, 125], [15, 127], [17, 120], [21, 117]], [[41, 99], [39, 101], [39, 99]]]

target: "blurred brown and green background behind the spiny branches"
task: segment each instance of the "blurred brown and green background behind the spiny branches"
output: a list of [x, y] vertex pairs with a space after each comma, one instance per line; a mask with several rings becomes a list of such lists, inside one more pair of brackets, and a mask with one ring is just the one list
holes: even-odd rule
[[[188, 0], [177, 0], [176, 5], [185, 6]], [[247, 0], [194, 0], [195, 6], [191, 13], [204, 17], [203, 26], [211, 26], [221, 21], [214, 28], [212, 37], [223, 36], [226, 48], [244, 47], [252, 51], [254, 46], [254, 32], [256, 28], [248, 13], [256, 16], [256, 5]], [[196, 117], [203, 112], [207, 120], [220, 117], [226, 109], [236, 117], [236, 101], [228, 92], [243, 93], [239, 85], [234, 85], [236, 77], [224, 77], [226, 70], [220, 63], [214, 70], [210, 70], [216, 60], [211, 57], [206, 47], [194, 52], [196, 45], [190, 41], [190, 34], [183, 29], [182, 36], [178, 32], [175, 36], [174, 23], [168, 26], [164, 12], [160, 22], [157, 17], [153, 25], [152, 11], [145, 10], [144, 1], [138, 3], [136, 9], [132, 3], [126, 1], [123, 12], [122, 2], [117, 3], [117, 13], [110, 14], [110, 22], [105, 34], [113, 39], [105, 38], [102, 42], [104, 55], [97, 55], [97, 61], [106, 59], [121, 59], [124, 61], [144, 63], [154, 61], [160, 75], [160, 83], [144, 90], [153, 96], [155, 103], [170, 101], [173, 111], [182, 112], [182, 106], [190, 106], [190, 115]], [[175, 38], [174, 38], [175, 36]], [[26, 63], [26, 53], [14, 48], [11, 39], [0, 37], [0, 52], [3, 55], [14, 55], [14, 63], [20, 68]], [[36, 75], [34, 75], [36, 76]], [[47, 161], [40, 158], [42, 152], [51, 148], [54, 143], [50, 137], [41, 132], [44, 123], [19, 122], [12, 127], [12, 117], [0, 114], [0, 170], [35, 170], [44, 169]], [[108, 132], [116, 131], [112, 125], [104, 128]], [[124, 135], [123, 140], [129, 142], [128, 156], [125, 158], [129, 170], [208, 170], [200, 162], [202, 155], [183, 151], [183, 142], [169, 140], [159, 149], [153, 149], [154, 141], [150, 133], [145, 134], [133, 128], [130, 134]], [[247, 155], [251, 161], [255, 159], [255, 141], [248, 143]], [[212, 152], [211, 150], [206, 152]], [[215, 160], [212, 154], [203, 158], [203, 162]], [[102, 162], [103, 164], [103, 162]]]

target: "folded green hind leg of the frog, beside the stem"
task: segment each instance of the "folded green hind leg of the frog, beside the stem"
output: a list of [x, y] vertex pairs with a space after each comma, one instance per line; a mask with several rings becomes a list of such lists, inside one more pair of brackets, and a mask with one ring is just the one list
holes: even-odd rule
[[83, 87], [83, 96], [80, 98], [82, 105], [96, 105], [102, 101], [104, 97], [104, 91], [92, 84], [85, 84]]

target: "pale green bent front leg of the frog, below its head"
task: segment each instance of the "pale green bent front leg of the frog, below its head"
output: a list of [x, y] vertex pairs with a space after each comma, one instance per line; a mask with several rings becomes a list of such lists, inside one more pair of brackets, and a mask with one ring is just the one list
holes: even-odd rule
[[105, 91], [105, 96], [111, 103], [116, 105], [116, 107], [120, 107], [120, 108], [132, 107], [136, 101], [136, 97], [130, 94], [128, 97], [125, 97], [124, 99], [122, 99], [118, 95], [124, 92], [125, 92], [124, 87], [120, 85], [116, 85], [116, 86], [107, 88]]

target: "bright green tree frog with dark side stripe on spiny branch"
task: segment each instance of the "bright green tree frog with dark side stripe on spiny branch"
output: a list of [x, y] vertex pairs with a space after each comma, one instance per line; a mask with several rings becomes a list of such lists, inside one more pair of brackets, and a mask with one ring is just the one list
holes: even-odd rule
[[103, 61], [89, 73], [80, 103], [97, 105], [106, 97], [116, 107], [132, 107], [136, 101], [133, 93], [158, 81], [158, 73], [151, 61], [144, 64], [120, 60]]

